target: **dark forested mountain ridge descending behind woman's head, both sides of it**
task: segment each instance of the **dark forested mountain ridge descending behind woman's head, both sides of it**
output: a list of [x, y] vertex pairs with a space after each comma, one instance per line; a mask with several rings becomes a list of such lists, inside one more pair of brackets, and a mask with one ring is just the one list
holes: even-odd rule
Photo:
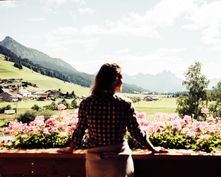
[[[95, 77], [94, 75], [77, 71], [62, 59], [52, 58], [36, 49], [28, 48], [9, 36], [0, 41], [1, 52], [20, 67], [23, 65], [41, 74], [81, 86], [89, 87]], [[125, 84], [123, 87], [123, 92], [128, 93], [144, 91], [146, 90], [134, 85], [134, 83]]]

